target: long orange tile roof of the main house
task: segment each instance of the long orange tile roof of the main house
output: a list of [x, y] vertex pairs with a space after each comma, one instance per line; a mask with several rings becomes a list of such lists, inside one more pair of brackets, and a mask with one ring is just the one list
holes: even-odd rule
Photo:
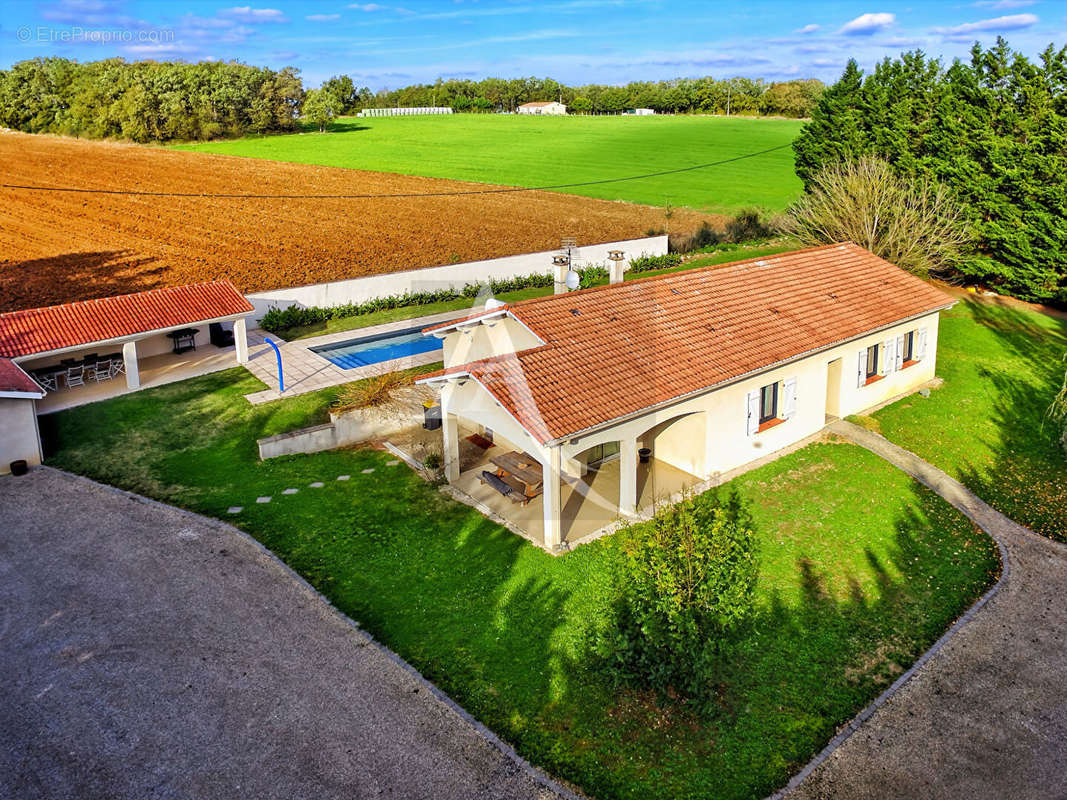
[[468, 372], [544, 443], [953, 302], [831, 244], [515, 303], [545, 345], [428, 377]]

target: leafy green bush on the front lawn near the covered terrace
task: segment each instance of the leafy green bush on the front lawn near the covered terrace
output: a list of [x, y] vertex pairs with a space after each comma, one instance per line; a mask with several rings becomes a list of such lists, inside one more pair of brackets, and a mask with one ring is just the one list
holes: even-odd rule
[[759, 565], [739, 500], [686, 498], [620, 531], [610, 623], [596, 637], [617, 679], [707, 701], [728, 645], [750, 620]]

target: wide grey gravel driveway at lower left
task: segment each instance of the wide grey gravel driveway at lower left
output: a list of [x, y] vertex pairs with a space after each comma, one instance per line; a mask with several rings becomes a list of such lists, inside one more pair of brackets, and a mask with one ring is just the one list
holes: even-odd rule
[[227, 526], [50, 469], [0, 521], [2, 797], [556, 796]]

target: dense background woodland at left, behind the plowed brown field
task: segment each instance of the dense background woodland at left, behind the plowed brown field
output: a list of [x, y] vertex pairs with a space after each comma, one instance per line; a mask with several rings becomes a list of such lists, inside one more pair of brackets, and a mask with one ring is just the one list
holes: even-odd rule
[[134, 142], [275, 133], [299, 127], [303, 97], [292, 67], [33, 59], [0, 70], [0, 125]]

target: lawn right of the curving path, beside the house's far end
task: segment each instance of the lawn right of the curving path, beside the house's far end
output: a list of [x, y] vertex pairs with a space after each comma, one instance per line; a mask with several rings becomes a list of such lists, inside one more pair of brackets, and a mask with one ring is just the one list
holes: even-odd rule
[[1067, 458], [1045, 412], [1064, 377], [1067, 320], [965, 300], [941, 315], [944, 386], [874, 414], [889, 439], [993, 508], [1067, 541]]

